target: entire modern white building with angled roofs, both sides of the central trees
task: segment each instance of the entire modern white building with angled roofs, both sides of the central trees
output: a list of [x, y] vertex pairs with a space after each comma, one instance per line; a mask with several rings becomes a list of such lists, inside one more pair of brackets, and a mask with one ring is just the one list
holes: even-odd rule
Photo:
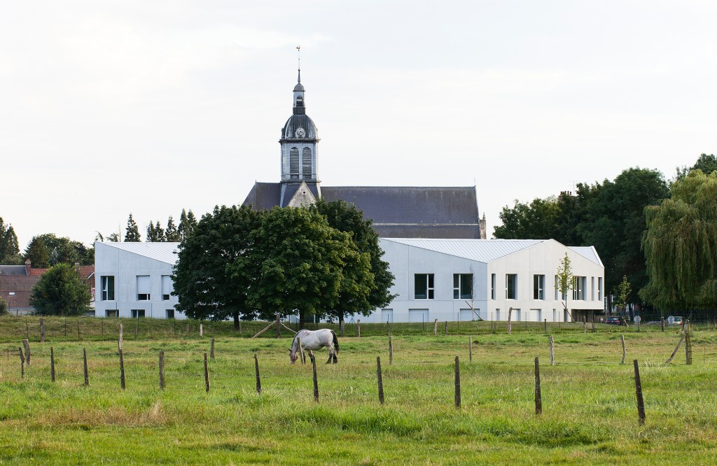
[[[603, 310], [604, 267], [594, 247], [554, 239], [391, 239], [381, 248], [395, 275], [384, 309], [362, 322], [511, 320], [570, 322]], [[95, 243], [98, 317], [186, 318], [174, 309], [179, 243]], [[573, 290], [563, 300], [556, 271], [568, 255]], [[350, 318], [349, 318], [350, 319]]]

